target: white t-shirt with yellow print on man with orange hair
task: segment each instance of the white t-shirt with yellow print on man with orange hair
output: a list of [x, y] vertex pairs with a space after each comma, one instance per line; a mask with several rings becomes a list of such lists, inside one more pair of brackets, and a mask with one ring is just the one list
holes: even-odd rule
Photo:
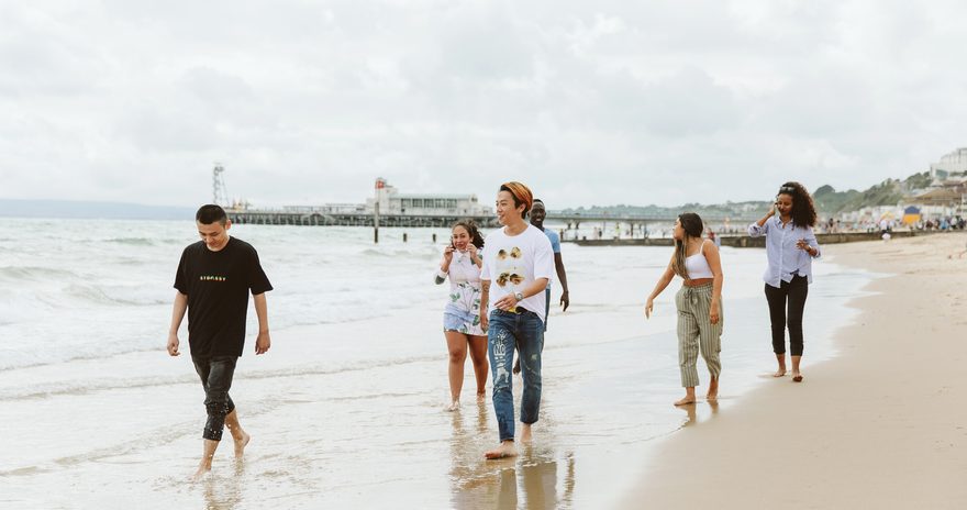
[[[484, 247], [481, 280], [490, 280], [490, 310], [504, 296], [523, 292], [537, 278], [554, 274], [554, 251], [551, 241], [541, 229], [527, 225], [527, 230], [510, 236], [504, 229], [490, 233]], [[518, 307], [525, 308], [544, 320], [546, 303], [544, 292], [524, 298]]]

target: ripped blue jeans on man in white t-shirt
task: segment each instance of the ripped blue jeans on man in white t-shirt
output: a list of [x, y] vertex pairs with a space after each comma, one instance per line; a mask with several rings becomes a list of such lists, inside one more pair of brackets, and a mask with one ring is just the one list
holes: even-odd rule
[[519, 308], [520, 313], [493, 310], [487, 331], [487, 351], [493, 376], [493, 412], [500, 441], [514, 439], [513, 366], [514, 348], [520, 353], [524, 393], [521, 397], [521, 422], [536, 423], [541, 410], [541, 352], [544, 350], [544, 321], [536, 313]]

